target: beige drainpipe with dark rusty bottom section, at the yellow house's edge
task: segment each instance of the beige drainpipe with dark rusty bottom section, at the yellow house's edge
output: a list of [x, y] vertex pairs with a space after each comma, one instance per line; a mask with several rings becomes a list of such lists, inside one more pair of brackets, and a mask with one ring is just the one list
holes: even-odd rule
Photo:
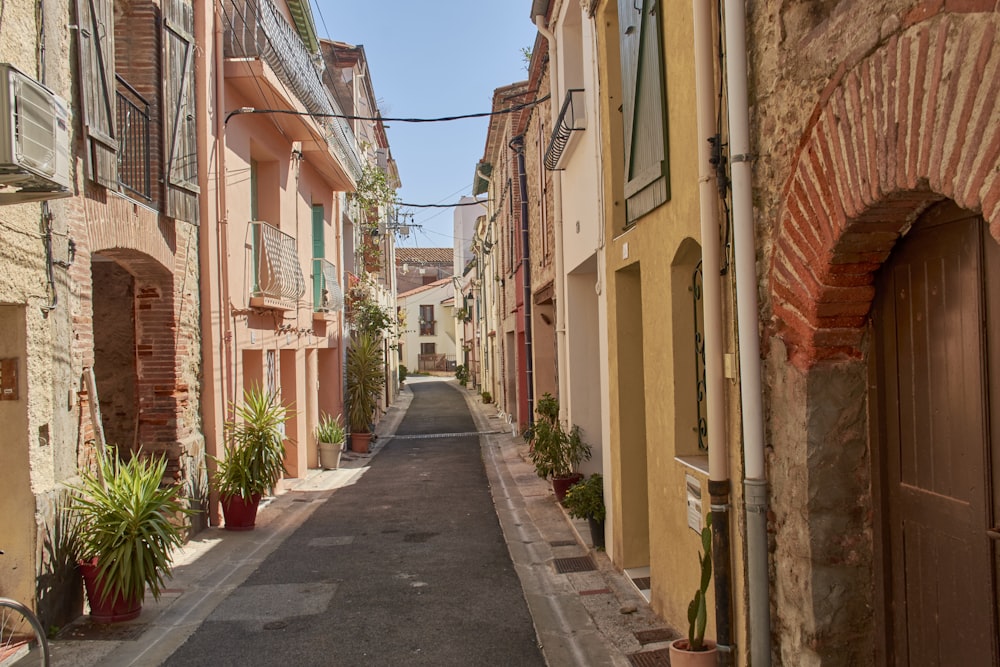
[[715, 134], [712, 0], [693, 0], [695, 98], [698, 122], [698, 192], [701, 212], [705, 393], [708, 417], [708, 491], [712, 507], [712, 563], [715, 575], [715, 632], [719, 664], [732, 664], [732, 562], [729, 537], [729, 448], [725, 413], [719, 194], [709, 161]]

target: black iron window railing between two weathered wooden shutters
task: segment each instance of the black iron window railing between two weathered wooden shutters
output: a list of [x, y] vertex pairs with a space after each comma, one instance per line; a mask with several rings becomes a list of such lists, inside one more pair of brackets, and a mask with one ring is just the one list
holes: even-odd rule
[[149, 175], [149, 102], [125, 79], [118, 80], [118, 184], [146, 201], [153, 198]]

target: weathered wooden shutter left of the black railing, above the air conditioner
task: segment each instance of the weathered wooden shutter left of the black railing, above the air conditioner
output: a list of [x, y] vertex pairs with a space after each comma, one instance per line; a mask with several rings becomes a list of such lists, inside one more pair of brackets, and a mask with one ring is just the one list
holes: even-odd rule
[[87, 176], [106, 188], [117, 190], [115, 22], [112, 9], [112, 0], [76, 0]]

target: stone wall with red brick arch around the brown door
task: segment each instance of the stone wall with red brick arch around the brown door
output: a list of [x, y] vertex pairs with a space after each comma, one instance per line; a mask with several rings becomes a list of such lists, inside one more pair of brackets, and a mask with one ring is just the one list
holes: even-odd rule
[[764, 2], [749, 16], [776, 664], [872, 664], [865, 328], [943, 198], [1000, 238], [995, 2]]

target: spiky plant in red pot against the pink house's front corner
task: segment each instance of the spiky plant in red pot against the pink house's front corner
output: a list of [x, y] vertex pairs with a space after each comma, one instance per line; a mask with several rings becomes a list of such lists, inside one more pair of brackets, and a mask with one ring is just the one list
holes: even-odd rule
[[287, 419], [277, 394], [254, 387], [243, 392], [236, 420], [226, 422], [226, 456], [215, 459], [213, 484], [227, 530], [252, 530], [261, 496], [286, 472], [281, 427]]

